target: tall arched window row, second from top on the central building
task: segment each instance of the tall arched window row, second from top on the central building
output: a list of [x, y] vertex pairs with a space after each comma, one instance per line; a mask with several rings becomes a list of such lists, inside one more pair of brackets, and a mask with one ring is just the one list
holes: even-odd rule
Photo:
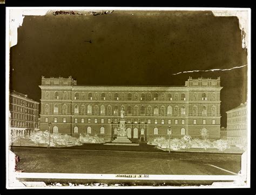
[[[62, 113], [63, 114], [67, 114], [67, 106], [66, 105], [63, 105], [62, 107]], [[123, 109], [125, 110], [125, 107], [124, 106], [121, 106], [120, 108], [118, 106], [114, 106], [113, 107], [113, 110], [112, 110], [112, 107], [111, 106], [107, 106], [107, 110], [105, 110], [105, 106], [102, 105], [100, 106], [100, 108], [96, 105], [92, 108], [92, 105], [88, 105], [87, 106], [87, 114], [95, 114], [95, 115], [105, 115], [105, 113], [107, 113], [107, 115], [118, 115], [118, 113], [120, 112], [120, 110]], [[215, 106], [212, 106], [211, 108], [211, 114], [212, 115], [215, 115], [216, 114], [216, 107]], [[167, 111], [167, 112], [166, 112]], [[85, 106], [82, 105], [80, 106], [80, 108], [78, 107], [78, 105], [75, 105], [74, 106], [74, 113], [75, 114], [85, 114]], [[151, 106], [148, 106], [147, 108], [145, 106], [134, 106], [133, 108], [131, 106], [127, 106], [127, 109], [125, 110], [125, 112], [127, 114], [132, 114], [133, 115], [151, 115], [152, 114], [152, 107]], [[48, 114], [49, 113], [49, 105], [45, 105], [45, 113]], [[54, 105], [54, 108], [53, 108], [53, 113], [59, 113], [59, 108], [58, 108], [58, 105]], [[174, 108], [172, 106], [168, 106], [167, 109], [165, 106], [161, 106], [160, 107], [160, 112], [159, 112], [159, 107], [158, 106], [155, 106], [153, 108], [153, 114], [154, 115], [160, 115], [161, 116], [165, 116], [166, 114], [167, 115], [185, 115], [186, 114], [186, 108], [185, 106], [181, 106], [181, 107], [178, 107], [178, 106], [174, 106]], [[197, 106], [194, 106], [193, 107], [193, 115], [197, 115], [198, 114], [198, 107]], [[203, 115], [206, 115], [207, 114], [207, 107], [206, 106], [201, 106], [201, 114]]]

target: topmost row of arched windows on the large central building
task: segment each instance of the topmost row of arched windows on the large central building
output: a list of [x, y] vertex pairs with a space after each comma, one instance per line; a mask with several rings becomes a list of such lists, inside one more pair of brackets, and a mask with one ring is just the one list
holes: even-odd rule
[[[66, 92], [63, 92], [62, 94], [63, 96], [63, 99], [66, 100], [68, 98], [68, 95]], [[92, 93], [88, 93], [87, 94], [87, 100], [92, 100], [92, 99], [95, 99], [95, 100], [122, 100], [122, 101], [125, 101], [125, 100], [134, 100], [134, 101], [138, 101], [138, 100], [141, 100], [141, 101], [151, 101], [151, 100], [161, 100], [161, 101], [165, 101], [165, 96], [167, 97], [167, 101], [185, 101], [186, 100], [186, 94], [185, 93], [181, 93], [180, 95], [178, 93], [174, 94], [174, 97], [173, 97], [173, 94], [169, 93], [169, 94], [160, 94], [159, 93], [153, 93], [153, 95], [151, 93], [149, 94], [144, 94], [142, 93], [140, 96], [138, 95], [138, 93], [135, 93], [132, 95], [132, 93], [128, 93], [128, 94], [125, 94], [125, 93], [122, 93], [122, 94], [118, 94], [118, 93], [114, 93], [113, 95], [113, 99], [112, 99], [112, 93], [107, 93], [105, 94], [104, 92], [101, 93], [100, 95], [98, 93], [95, 93], [94, 94], [94, 98], [92, 96]], [[59, 98], [59, 92], [55, 92], [54, 93], [54, 99], [60, 99]], [[46, 92], [45, 93], [45, 98], [46, 99], [49, 99], [49, 92]], [[85, 100], [85, 93], [78, 93], [76, 92], [75, 93], [75, 96], [74, 96], [74, 99], [75, 100]], [[207, 94], [206, 93], [203, 93], [201, 94], [201, 97], [200, 99], [198, 99], [198, 94], [197, 93], [194, 93], [193, 94], [193, 100], [207, 100]], [[216, 94], [213, 93], [212, 94], [212, 100], [216, 100]]]

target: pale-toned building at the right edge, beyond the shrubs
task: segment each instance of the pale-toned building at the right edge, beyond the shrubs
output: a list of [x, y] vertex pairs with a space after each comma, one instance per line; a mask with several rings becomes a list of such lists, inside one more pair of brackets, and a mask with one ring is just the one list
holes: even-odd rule
[[247, 140], [247, 103], [228, 110], [227, 112], [227, 141], [237, 145]]

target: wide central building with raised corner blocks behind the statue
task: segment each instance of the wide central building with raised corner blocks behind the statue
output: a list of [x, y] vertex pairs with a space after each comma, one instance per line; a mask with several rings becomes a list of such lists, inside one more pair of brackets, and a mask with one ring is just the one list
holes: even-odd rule
[[[143, 142], [158, 136], [220, 138], [220, 78], [189, 78], [184, 86], [85, 86], [42, 76], [41, 130], [79, 136], [117, 136], [120, 110], [127, 136]], [[49, 124], [51, 123], [51, 124]]]

